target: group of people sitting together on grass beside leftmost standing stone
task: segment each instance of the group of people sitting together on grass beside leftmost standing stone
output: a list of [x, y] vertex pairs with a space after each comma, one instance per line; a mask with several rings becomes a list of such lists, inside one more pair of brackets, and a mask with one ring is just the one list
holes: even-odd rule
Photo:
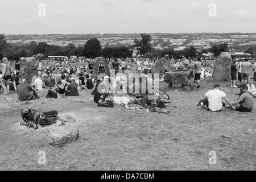
[[64, 98], [65, 96], [79, 96], [79, 90], [93, 89], [93, 80], [89, 74], [80, 73], [79, 77], [67, 73], [53, 74], [44, 72], [32, 78], [32, 84], [27, 84], [26, 79], [22, 79], [16, 88], [17, 101], [30, 101], [38, 99], [37, 91], [49, 89], [47, 98]]

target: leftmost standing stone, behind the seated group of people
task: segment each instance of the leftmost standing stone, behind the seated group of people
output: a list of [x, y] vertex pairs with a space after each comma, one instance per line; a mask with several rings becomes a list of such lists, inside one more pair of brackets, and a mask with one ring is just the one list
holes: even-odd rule
[[38, 74], [38, 61], [35, 57], [20, 57], [20, 77], [30, 84], [32, 77]]

